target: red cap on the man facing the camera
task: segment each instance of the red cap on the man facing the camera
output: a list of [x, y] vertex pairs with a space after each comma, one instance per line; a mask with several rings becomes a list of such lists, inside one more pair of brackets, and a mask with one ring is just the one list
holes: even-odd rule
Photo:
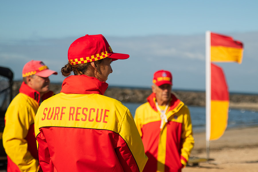
[[169, 71], [160, 70], [154, 73], [153, 76], [153, 83], [155, 83], [158, 86], [161, 86], [163, 84], [172, 84], [172, 75]]

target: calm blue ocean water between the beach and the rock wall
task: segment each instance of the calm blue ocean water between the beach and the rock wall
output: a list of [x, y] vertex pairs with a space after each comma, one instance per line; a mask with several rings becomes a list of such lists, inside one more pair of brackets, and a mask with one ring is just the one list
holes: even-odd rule
[[[135, 114], [135, 110], [142, 103], [127, 103], [122, 102], [130, 112], [132, 116]], [[194, 132], [205, 131], [205, 107], [188, 106], [191, 114], [191, 120]], [[229, 109], [228, 112], [228, 126], [227, 128], [243, 128], [250, 126], [258, 126], [258, 112], [248, 110]]]

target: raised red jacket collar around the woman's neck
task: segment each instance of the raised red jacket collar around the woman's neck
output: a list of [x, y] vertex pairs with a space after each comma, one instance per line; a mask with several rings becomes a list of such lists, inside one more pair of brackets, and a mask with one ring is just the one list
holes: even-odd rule
[[108, 84], [87, 75], [72, 75], [64, 79], [61, 93], [104, 95]]

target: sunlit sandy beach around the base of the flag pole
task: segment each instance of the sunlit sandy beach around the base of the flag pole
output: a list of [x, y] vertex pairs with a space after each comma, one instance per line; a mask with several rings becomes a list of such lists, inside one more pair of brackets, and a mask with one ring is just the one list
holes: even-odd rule
[[[194, 133], [191, 157], [207, 158], [205, 132]], [[218, 140], [210, 142], [210, 159], [198, 166], [187, 166], [183, 172], [258, 171], [258, 126], [226, 129]]]

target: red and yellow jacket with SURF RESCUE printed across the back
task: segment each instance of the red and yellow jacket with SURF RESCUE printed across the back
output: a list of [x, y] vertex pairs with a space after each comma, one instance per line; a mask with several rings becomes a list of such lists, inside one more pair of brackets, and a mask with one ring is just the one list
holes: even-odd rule
[[35, 119], [39, 161], [45, 171], [142, 171], [147, 161], [127, 107], [104, 96], [94, 77], [64, 79], [61, 93], [40, 105]]

